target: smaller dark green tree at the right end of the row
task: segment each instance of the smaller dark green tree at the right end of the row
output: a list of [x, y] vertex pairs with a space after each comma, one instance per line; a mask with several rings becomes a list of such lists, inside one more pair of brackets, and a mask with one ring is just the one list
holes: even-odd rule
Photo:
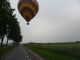
[[22, 41], [20, 26], [19, 26], [19, 23], [17, 21], [17, 18], [15, 18], [15, 15], [12, 16], [11, 19], [12, 19], [12, 22], [11, 22], [11, 25], [10, 25], [11, 29], [9, 31], [9, 34], [8, 34], [7, 38], [13, 40], [16, 43], [19, 43], [19, 42]]

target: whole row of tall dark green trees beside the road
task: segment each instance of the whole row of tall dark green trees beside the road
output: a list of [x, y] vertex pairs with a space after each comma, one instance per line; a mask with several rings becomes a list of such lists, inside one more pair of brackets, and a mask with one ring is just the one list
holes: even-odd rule
[[1, 47], [3, 46], [4, 36], [8, 40], [13, 40], [16, 43], [22, 41], [20, 26], [16, 15], [13, 14], [14, 9], [11, 8], [8, 0], [0, 0], [0, 39]]

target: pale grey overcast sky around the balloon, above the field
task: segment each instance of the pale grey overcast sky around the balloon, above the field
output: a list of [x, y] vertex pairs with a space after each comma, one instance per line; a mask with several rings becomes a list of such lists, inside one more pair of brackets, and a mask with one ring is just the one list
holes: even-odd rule
[[23, 43], [80, 41], [80, 0], [37, 0], [38, 14], [26, 25], [19, 0], [10, 0], [20, 22]]

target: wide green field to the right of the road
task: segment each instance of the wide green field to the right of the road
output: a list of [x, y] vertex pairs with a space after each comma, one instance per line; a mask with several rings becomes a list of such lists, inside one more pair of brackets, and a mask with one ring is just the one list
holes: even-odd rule
[[28, 43], [25, 47], [44, 60], [80, 60], [80, 43]]

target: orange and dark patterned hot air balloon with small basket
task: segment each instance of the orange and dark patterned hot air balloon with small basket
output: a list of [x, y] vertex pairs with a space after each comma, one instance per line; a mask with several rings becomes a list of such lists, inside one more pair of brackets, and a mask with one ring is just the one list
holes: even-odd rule
[[39, 5], [36, 0], [19, 0], [18, 10], [29, 25], [30, 20], [37, 14]]

